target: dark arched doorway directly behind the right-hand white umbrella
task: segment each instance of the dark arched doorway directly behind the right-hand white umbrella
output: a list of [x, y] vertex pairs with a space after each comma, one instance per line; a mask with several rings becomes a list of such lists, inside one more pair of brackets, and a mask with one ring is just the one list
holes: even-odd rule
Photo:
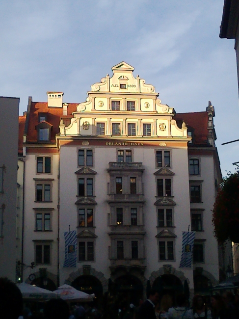
[[103, 296], [103, 287], [100, 280], [91, 275], [79, 276], [72, 282], [72, 287], [88, 294], [94, 293], [96, 301], [101, 300]]

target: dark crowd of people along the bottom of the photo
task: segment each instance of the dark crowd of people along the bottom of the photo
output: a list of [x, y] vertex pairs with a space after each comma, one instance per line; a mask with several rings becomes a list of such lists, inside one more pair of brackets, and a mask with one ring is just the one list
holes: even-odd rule
[[178, 294], [176, 303], [177, 306], [173, 307], [169, 294], [160, 296], [159, 292], [151, 290], [148, 298], [140, 300], [137, 306], [122, 298], [115, 311], [110, 304], [100, 311], [94, 304], [70, 307], [62, 299], [51, 299], [34, 314], [29, 305], [24, 304], [18, 287], [7, 278], [0, 278], [0, 319], [239, 319], [238, 292], [214, 293], [210, 300], [196, 294], [191, 307], [186, 296]]

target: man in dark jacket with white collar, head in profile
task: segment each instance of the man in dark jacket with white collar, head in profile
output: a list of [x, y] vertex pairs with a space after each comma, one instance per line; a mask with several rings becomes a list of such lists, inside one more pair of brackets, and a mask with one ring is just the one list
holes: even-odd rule
[[139, 319], [156, 319], [155, 305], [159, 302], [159, 293], [152, 289], [149, 298], [139, 308]]

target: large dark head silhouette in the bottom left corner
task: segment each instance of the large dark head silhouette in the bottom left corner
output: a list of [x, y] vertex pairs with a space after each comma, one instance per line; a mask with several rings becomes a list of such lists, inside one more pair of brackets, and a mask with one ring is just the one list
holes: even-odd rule
[[18, 319], [23, 312], [23, 296], [16, 284], [0, 278], [0, 318]]

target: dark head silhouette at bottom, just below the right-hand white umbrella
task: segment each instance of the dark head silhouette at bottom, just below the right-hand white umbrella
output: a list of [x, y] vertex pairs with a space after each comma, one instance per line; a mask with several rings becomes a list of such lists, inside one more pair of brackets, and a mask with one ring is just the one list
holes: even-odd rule
[[44, 315], [46, 319], [68, 319], [69, 306], [65, 300], [51, 299], [45, 305]]

